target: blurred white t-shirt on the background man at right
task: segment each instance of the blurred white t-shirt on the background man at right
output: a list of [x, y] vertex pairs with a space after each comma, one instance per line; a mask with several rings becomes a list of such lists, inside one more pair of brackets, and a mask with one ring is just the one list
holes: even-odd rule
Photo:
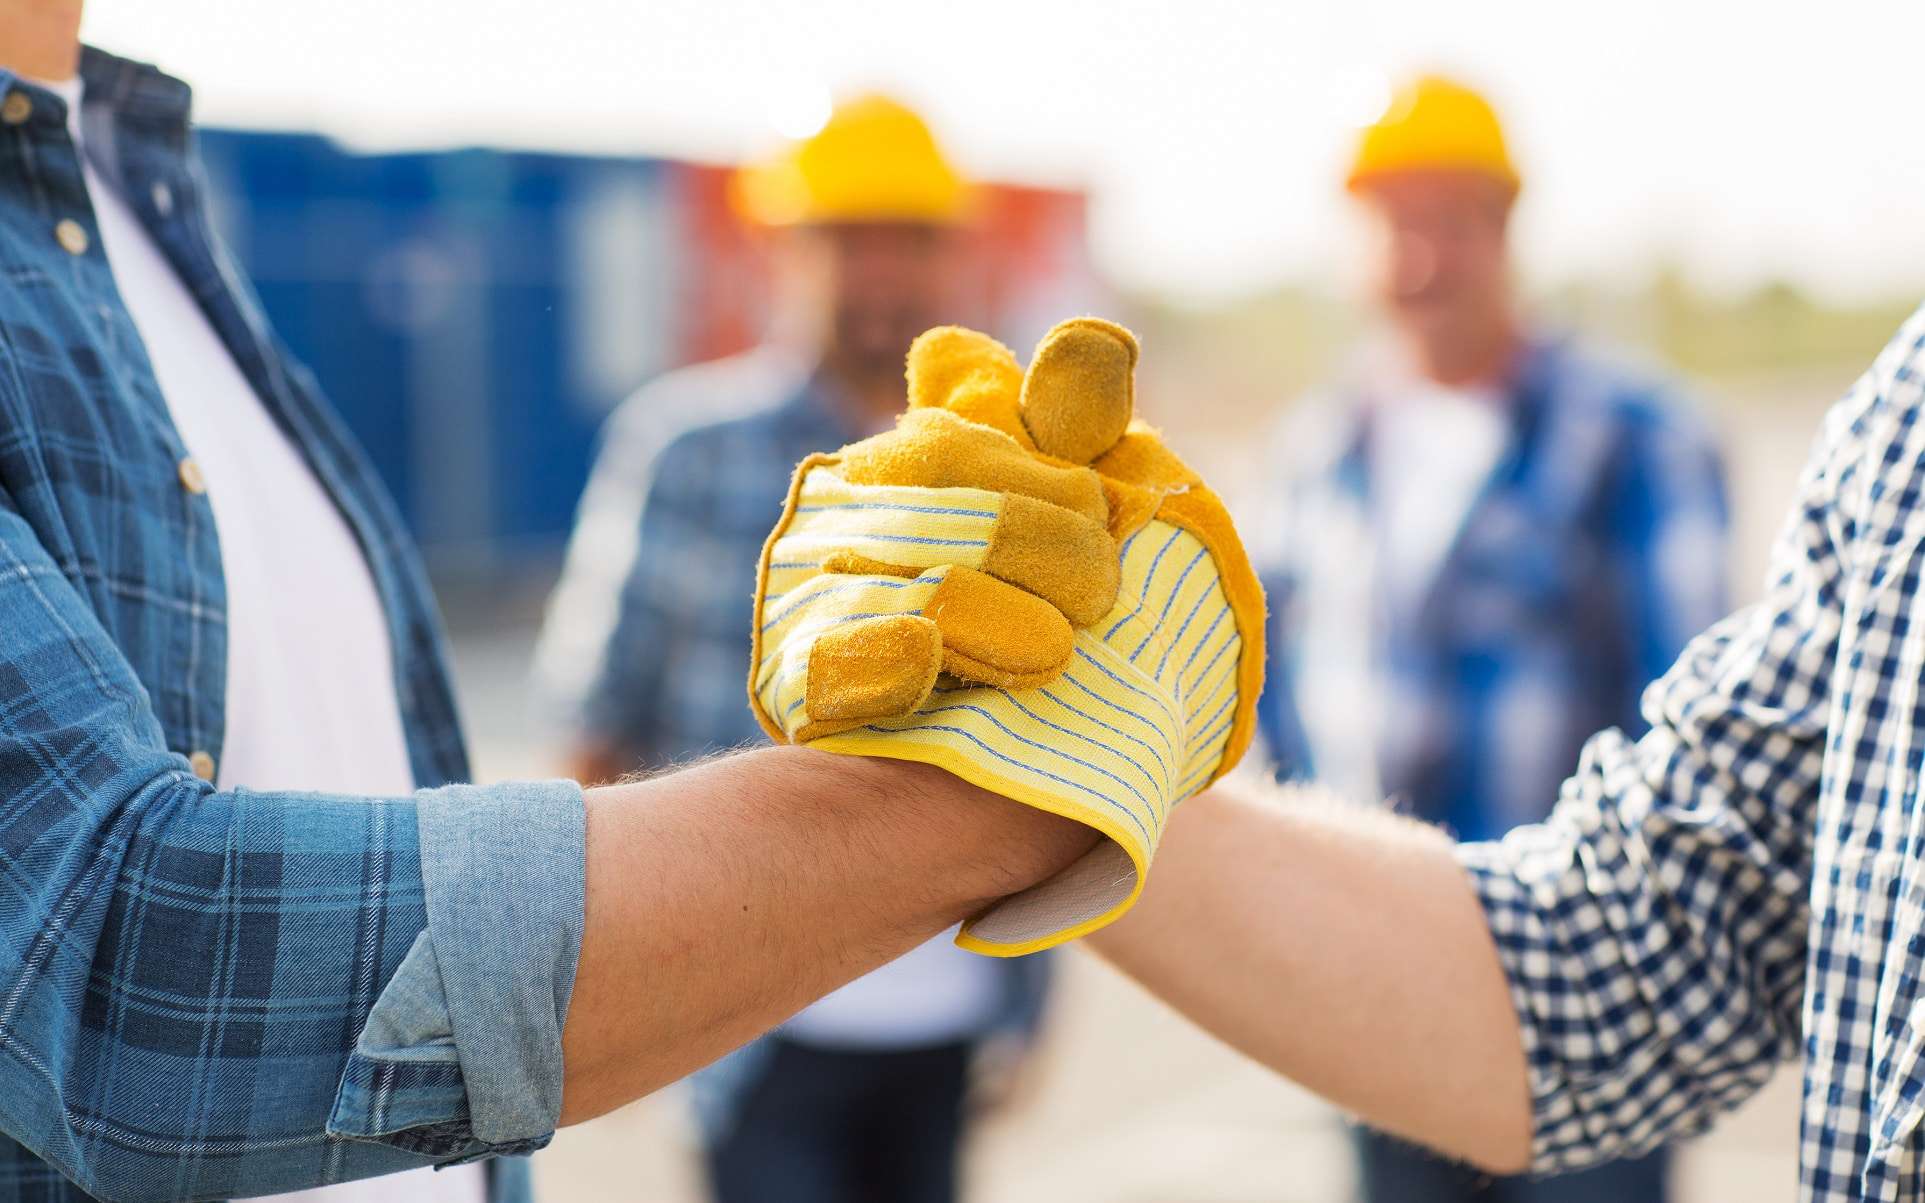
[[1399, 604], [1430, 585], [1509, 437], [1503, 393], [1411, 381], [1378, 406], [1371, 489], [1378, 497], [1376, 564]]

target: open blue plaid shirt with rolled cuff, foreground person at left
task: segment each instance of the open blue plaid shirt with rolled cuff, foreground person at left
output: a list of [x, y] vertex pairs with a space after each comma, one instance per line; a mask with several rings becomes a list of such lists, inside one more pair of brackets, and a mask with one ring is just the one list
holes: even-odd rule
[[[560, 1113], [579, 787], [449, 785], [468, 760], [425, 579], [208, 229], [187, 87], [92, 50], [83, 75], [89, 152], [360, 539], [439, 789], [191, 770], [225, 726], [212, 510], [65, 104], [0, 71], [0, 1197], [218, 1199], [535, 1149]], [[495, 1199], [526, 1197], [526, 1163], [497, 1165]]]

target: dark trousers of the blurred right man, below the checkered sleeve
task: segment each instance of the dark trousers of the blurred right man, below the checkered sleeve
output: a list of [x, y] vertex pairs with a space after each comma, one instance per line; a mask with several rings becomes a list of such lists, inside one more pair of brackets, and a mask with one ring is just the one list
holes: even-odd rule
[[1665, 1149], [1555, 1178], [1492, 1178], [1369, 1128], [1353, 1128], [1365, 1203], [1663, 1203]]

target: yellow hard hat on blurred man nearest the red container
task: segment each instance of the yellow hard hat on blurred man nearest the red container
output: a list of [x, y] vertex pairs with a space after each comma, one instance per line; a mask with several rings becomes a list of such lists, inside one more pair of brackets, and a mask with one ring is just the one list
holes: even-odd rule
[[930, 127], [887, 96], [835, 106], [812, 137], [735, 171], [735, 212], [762, 225], [962, 219], [968, 185]]

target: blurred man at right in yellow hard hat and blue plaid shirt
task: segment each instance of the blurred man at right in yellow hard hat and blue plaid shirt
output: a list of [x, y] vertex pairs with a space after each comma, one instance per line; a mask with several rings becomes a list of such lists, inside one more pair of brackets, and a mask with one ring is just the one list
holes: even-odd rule
[[[1463, 839], [1540, 820], [1584, 737], [1725, 612], [1725, 495], [1696, 418], [1530, 331], [1509, 287], [1517, 171], [1490, 106], [1409, 85], [1348, 179], [1392, 337], [1286, 427], [1251, 529], [1272, 631], [1263, 729], [1286, 778]], [[1359, 1130], [1371, 1203], [1661, 1199], [1663, 1153], [1492, 1180]]]

